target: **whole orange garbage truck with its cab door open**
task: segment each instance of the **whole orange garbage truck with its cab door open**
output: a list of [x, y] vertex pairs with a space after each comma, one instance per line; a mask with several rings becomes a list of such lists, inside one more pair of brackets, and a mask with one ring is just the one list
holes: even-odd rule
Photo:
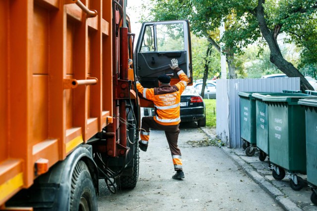
[[134, 53], [126, 4], [0, 0], [0, 210], [95, 211], [100, 179], [136, 186], [140, 107], [153, 105], [134, 82], [157, 85], [171, 58], [191, 78], [190, 34], [144, 23]]

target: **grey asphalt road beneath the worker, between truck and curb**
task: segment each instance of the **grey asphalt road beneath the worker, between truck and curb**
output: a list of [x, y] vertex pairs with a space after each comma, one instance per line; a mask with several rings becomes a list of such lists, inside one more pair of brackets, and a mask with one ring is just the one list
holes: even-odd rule
[[133, 190], [111, 194], [100, 180], [100, 211], [281, 211], [261, 187], [217, 146], [193, 147], [207, 138], [195, 123], [181, 125], [178, 144], [185, 179], [174, 180], [163, 131], [151, 130], [140, 152], [139, 181]]

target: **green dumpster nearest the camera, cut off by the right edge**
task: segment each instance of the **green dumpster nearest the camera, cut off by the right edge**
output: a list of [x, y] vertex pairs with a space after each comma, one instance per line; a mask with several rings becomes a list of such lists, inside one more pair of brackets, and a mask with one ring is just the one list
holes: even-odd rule
[[311, 200], [317, 205], [317, 99], [302, 99], [298, 104], [306, 110], [307, 181], [313, 190]]

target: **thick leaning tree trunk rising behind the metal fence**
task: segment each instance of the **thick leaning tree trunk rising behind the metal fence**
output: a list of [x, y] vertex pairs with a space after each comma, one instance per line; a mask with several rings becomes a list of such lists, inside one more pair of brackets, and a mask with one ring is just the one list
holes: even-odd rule
[[313, 86], [308, 83], [302, 73], [293, 66], [292, 63], [284, 59], [281, 50], [277, 43], [277, 36], [281, 30], [281, 25], [276, 25], [274, 31], [271, 31], [265, 22], [263, 4], [265, 0], [258, 0], [258, 6], [256, 8], [256, 16], [259, 22], [261, 33], [266, 40], [270, 49], [270, 61], [276, 65], [276, 67], [285, 73], [288, 77], [299, 77], [301, 81], [301, 90], [307, 89], [314, 90]]

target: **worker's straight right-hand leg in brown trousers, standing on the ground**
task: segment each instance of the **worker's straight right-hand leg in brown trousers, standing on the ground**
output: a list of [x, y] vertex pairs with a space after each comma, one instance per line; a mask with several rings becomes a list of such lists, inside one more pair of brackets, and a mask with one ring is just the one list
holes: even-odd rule
[[173, 164], [175, 170], [182, 170], [182, 154], [177, 146], [177, 140], [179, 135], [179, 125], [168, 126], [168, 130], [165, 130], [165, 135], [169, 145], [170, 152], [172, 154]]

